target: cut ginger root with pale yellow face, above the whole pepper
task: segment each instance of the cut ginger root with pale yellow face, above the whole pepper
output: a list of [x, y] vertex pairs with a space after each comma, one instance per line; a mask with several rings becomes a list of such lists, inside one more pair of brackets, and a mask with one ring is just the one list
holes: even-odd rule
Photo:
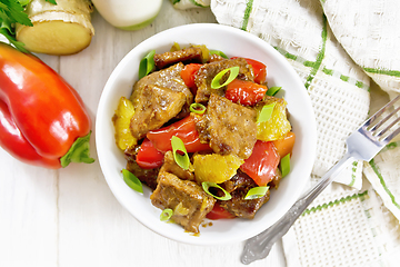
[[26, 9], [33, 27], [17, 24], [17, 40], [31, 52], [72, 55], [90, 44], [94, 34], [89, 0], [32, 0]]

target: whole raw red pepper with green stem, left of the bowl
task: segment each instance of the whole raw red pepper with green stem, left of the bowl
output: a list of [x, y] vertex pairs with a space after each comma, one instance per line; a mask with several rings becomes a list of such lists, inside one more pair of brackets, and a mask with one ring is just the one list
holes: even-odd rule
[[46, 168], [93, 162], [90, 117], [78, 92], [32, 55], [0, 43], [0, 146]]

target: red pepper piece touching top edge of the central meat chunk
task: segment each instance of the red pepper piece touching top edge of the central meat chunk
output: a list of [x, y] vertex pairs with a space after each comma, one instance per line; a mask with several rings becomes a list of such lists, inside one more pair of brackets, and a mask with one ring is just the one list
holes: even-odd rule
[[254, 106], [263, 98], [267, 90], [266, 86], [234, 79], [227, 86], [226, 98], [243, 106]]

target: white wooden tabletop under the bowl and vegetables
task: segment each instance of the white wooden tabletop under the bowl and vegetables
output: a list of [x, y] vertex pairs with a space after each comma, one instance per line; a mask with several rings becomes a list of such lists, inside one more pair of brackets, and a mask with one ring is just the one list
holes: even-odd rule
[[[159, 31], [194, 22], [216, 19], [209, 9], [178, 11], [164, 0], [151, 26], [122, 31], [94, 12], [89, 48], [74, 56], [39, 57], [79, 91], [94, 126], [102, 89], [124, 55]], [[94, 134], [91, 155], [97, 158]], [[190, 246], [152, 233], [119, 205], [98, 160], [47, 170], [21, 164], [0, 148], [1, 267], [242, 266], [242, 247]], [[280, 244], [252, 266], [286, 266]]]

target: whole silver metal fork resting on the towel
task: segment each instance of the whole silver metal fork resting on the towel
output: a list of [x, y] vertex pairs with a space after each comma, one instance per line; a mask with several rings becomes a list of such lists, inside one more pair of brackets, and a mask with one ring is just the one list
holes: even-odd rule
[[[400, 116], [394, 118], [400, 106], [393, 105], [400, 99], [400, 95], [388, 102], [378, 112], [372, 115], [360, 128], [346, 140], [347, 154], [339, 160], [311, 189], [309, 189], [294, 205], [267, 230], [247, 240], [241, 255], [242, 264], [250, 264], [268, 256], [273, 244], [288, 233], [289, 228], [306, 210], [306, 208], [329, 186], [334, 177], [347, 166], [349, 161], [370, 161], [393, 137], [400, 132]], [[391, 112], [389, 110], [393, 109]], [[383, 117], [383, 112], [390, 113]], [[382, 119], [380, 119], [383, 117]], [[379, 120], [380, 119], [380, 120]]]

